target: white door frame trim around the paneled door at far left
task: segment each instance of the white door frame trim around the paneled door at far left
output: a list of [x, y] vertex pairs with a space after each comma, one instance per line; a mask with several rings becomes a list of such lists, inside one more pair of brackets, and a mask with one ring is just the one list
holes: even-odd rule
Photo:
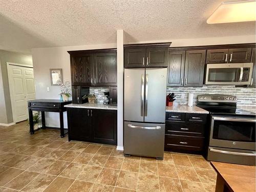
[[32, 68], [32, 69], [33, 69], [33, 66], [26, 65], [26, 64], [13, 63], [13, 62], [6, 62], [6, 65], [7, 65], [7, 73], [8, 73], [9, 92], [10, 92], [11, 105], [12, 105], [12, 119], [13, 119], [13, 122], [16, 123], [16, 114], [14, 110], [14, 97], [13, 97], [13, 91], [12, 91], [13, 84], [12, 84], [12, 80], [10, 79], [11, 66], [18, 66], [18, 67], [25, 67], [25, 68]]

